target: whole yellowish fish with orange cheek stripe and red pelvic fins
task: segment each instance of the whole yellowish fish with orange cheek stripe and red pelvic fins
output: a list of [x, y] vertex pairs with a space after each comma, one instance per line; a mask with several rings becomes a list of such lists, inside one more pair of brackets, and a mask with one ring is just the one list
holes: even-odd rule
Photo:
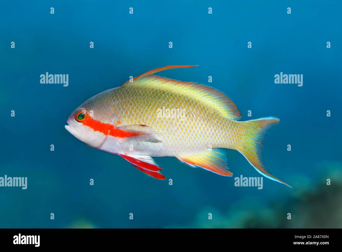
[[263, 164], [263, 142], [278, 118], [239, 121], [237, 106], [218, 89], [155, 75], [197, 66], [153, 69], [99, 93], [71, 112], [65, 129], [157, 179], [166, 177], [152, 157], [164, 156], [232, 177], [225, 149], [234, 149], [263, 176], [291, 187]]

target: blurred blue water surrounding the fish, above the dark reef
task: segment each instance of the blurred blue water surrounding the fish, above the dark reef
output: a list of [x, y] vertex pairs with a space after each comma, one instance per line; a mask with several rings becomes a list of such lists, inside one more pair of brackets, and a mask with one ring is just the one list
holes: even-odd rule
[[[341, 7], [340, 1], [1, 1], [0, 176], [27, 177], [28, 188], [0, 188], [0, 227], [209, 227], [210, 221], [240, 227], [255, 209], [325, 184], [326, 167], [342, 163]], [[234, 150], [227, 150], [233, 178], [155, 158], [173, 179], [169, 185], [64, 129], [83, 101], [129, 76], [192, 64], [199, 67], [160, 74], [203, 84], [212, 76], [210, 85], [234, 100], [241, 120], [280, 118], [265, 141], [264, 161], [293, 189], [266, 178], [262, 190], [235, 187], [234, 177], [259, 173]], [[45, 72], [69, 74], [69, 86], [41, 84]], [[303, 74], [303, 86], [275, 84], [280, 72]], [[271, 210], [263, 221], [286, 214]]]

